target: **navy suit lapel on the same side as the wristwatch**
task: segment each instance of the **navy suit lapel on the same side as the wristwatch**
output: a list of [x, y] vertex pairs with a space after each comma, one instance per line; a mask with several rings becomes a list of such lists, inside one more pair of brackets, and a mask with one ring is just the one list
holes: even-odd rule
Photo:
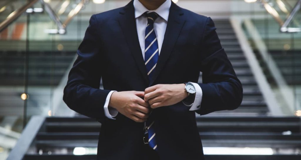
[[185, 23], [184, 16], [182, 16], [182, 15], [183, 15], [183, 12], [182, 12], [181, 8], [172, 2], [172, 5], [170, 6], [170, 9], [169, 9], [169, 17], [168, 17], [167, 27], [166, 27], [159, 59], [157, 61], [157, 65], [153, 71], [154, 72], [153, 77], [149, 83], [149, 86], [151, 86], [154, 83], [154, 81], [160, 74], [160, 71], [164, 67], [164, 64], [166, 63], [167, 59], [169, 58], [170, 53], [172, 52], [172, 49], [175, 46], [175, 42], [177, 41], [178, 36]]

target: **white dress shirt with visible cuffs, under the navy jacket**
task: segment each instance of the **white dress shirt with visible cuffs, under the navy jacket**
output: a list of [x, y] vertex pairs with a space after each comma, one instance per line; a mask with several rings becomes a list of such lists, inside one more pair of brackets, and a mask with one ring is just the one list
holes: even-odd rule
[[[158, 42], [158, 48], [159, 48], [159, 55], [164, 39], [164, 34], [167, 26], [168, 16], [169, 16], [169, 8], [171, 5], [171, 0], [166, 0], [159, 8], [156, 10], [153, 10], [156, 12], [159, 17], [154, 22], [154, 30], [157, 36], [157, 42]], [[135, 8], [135, 19], [136, 19], [136, 27], [137, 27], [137, 33], [138, 33], [138, 39], [142, 51], [142, 56], [144, 59], [144, 43], [145, 43], [145, 29], [147, 26], [147, 17], [144, 17], [142, 14], [146, 11], [149, 11], [147, 8], [142, 5], [139, 0], [134, 0], [134, 8]], [[202, 89], [197, 83], [192, 83], [194, 85], [194, 88], [196, 89], [196, 96], [194, 99], [194, 102], [189, 105], [191, 108], [190, 111], [198, 110], [200, 107], [198, 107], [202, 102]], [[183, 88], [184, 89], [184, 88]], [[108, 107], [110, 97], [113, 92], [111, 91], [106, 99], [106, 102], [104, 104], [104, 114], [107, 118], [115, 119], [114, 117], [118, 114], [118, 111], [115, 108]]]

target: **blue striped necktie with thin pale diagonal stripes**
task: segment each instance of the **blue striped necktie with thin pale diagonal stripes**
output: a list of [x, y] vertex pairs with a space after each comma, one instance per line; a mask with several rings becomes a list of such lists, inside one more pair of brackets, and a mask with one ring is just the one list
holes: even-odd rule
[[[154, 30], [154, 21], [159, 15], [156, 12], [145, 12], [144, 16], [147, 17], [147, 27], [145, 29], [144, 62], [146, 66], [148, 79], [151, 80], [153, 71], [156, 67], [159, 58], [158, 41]], [[154, 122], [154, 117], [150, 115], [150, 117], [145, 122], [145, 128], [147, 129], [148, 134], [148, 145], [152, 149], [157, 150]]]

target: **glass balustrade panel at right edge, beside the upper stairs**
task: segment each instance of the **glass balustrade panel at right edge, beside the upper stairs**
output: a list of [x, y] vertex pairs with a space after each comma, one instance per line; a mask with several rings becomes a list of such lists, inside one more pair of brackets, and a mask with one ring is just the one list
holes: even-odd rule
[[[287, 98], [290, 99], [289, 101], [280, 102], [282, 103], [281, 105], [290, 106], [286, 114], [300, 116], [301, 32], [298, 32], [298, 30], [301, 31], [300, 10], [296, 10], [295, 16], [293, 16], [287, 26], [288, 29], [294, 29], [293, 32], [281, 32], [281, 26], [290, 17], [290, 14], [294, 12], [294, 8], [298, 3], [300, 3], [299, 0], [270, 0], [252, 4], [253, 7], [251, 10], [254, 12], [251, 13], [253, 14], [251, 16], [251, 23], [263, 42], [261, 46], [266, 47], [266, 55], [262, 55], [262, 49], [252, 39], [254, 35], [249, 34], [245, 23], [243, 23], [243, 27], [253, 47], [253, 51], [256, 53], [258, 60], [261, 61], [261, 67], [274, 92], [282, 94], [280, 98], [289, 95]], [[265, 13], [258, 15], [259, 10], [263, 10]], [[243, 21], [247, 19], [244, 17]], [[280, 75], [275, 74], [277, 73], [275, 71], [279, 71]], [[281, 83], [282, 79], [284, 82], [283, 85]]]

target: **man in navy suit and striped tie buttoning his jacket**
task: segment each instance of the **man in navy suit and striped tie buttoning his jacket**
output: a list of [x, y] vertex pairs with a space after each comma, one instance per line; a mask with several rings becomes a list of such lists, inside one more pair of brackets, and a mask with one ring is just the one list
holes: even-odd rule
[[215, 30], [210, 17], [171, 0], [133, 0], [92, 15], [63, 99], [101, 122], [98, 159], [203, 159], [195, 112], [242, 101]]

